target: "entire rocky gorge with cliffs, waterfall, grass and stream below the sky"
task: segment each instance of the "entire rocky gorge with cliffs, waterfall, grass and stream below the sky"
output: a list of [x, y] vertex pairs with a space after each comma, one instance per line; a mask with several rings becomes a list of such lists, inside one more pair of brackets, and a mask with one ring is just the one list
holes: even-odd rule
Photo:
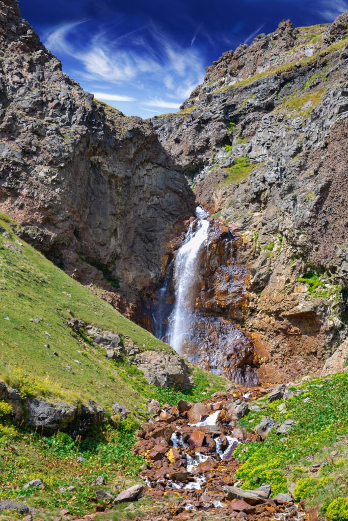
[[348, 11], [147, 120], [0, 42], [2, 518], [346, 521]]

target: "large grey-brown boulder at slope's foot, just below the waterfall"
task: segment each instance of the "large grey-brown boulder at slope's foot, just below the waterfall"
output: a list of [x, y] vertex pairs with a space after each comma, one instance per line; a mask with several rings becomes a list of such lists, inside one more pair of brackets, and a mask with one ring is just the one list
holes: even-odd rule
[[184, 391], [193, 386], [193, 378], [184, 358], [172, 353], [145, 351], [139, 353], [133, 363], [142, 371], [151, 385]]

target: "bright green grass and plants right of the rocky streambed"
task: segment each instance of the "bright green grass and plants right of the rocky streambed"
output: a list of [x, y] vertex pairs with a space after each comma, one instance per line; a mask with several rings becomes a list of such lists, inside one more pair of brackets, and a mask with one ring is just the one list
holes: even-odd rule
[[[329, 504], [346, 495], [348, 487], [348, 447], [343, 441], [348, 432], [348, 374], [306, 382], [298, 396], [284, 401], [257, 403], [260, 412], [250, 412], [239, 423], [253, 429], [262, 416], [272, 417], [281, 424], [293, 419], [296, 425], [285, 441], [272, 430], [265, 442], [239, 445], [235, 455], [242, 462], [236, 478], [243, 479], [243, 488], [258, 486], [259, 481], [270, 483], [272, 496], [286, 492], [297, 483], [296, 501], [306, 500], [308, 506], [321, 507], [325, 514]], [[304, 402], [304, 399], [309, 398]], [[282, 414], [278, 405], [285, 403]], [[332, 451], [338, 454], [332, 455]], [[311, 472], [311, 465], [322, 462], [320, 471]]]

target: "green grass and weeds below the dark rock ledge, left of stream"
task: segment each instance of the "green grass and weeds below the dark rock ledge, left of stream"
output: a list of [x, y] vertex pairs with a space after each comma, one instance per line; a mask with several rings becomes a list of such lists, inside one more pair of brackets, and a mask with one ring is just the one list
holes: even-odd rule
[[[76, 440], [65, 433], [42, 436], [11, 423], [0, 423], [0, 499], [13, 499], [44, 508], [35, 517], [53, 519], [62, 508], [73, 515], [93, 510], [95, 490], [116, 495], [133, 485], [145, 462], [133, 452], [136, 438], [127, 420], [119, 429], [96, 429], [92, 436]], [[86, 458], [82, 464], [77, 456]], [[102, 476], [105, 486], [92, 487]], [[31, 479], [40, 478], [45, 490], [24, 489]], [[75, 491], [61, 488], [76, 487]], [[96, 501], [97, 502], [97, 501]], [[102, 501], [97, 503], [103, 504]], [[13, 515], [10, 516], [13, 518]]]

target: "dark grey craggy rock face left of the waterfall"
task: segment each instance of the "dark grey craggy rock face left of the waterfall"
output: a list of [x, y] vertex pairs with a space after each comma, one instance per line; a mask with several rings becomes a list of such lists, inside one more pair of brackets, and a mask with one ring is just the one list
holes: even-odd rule
[[0, 14], [0, 209], [74, 278], [109, 291], [120, 281], [129, 310], [194, 195], [150, 122], [83, 92], [16, 0]]

